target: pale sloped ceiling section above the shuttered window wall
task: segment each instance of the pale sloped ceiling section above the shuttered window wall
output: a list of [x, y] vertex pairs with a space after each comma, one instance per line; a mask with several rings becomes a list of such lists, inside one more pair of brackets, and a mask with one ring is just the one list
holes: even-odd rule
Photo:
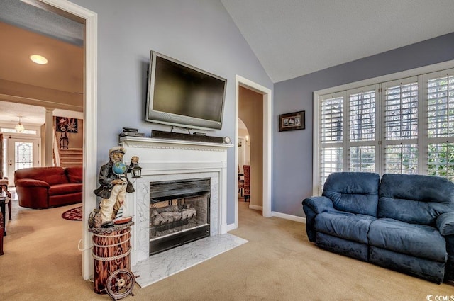
[[453, 0], [221, 0], [273, 82], [454, 32]]

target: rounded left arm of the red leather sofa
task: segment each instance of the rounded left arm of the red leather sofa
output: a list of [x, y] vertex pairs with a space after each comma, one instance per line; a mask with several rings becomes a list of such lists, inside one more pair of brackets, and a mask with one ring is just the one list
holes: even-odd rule
[[49, 184], [45, 181], [22, 178], [15, 182], [19, 206], [33, 209], [48, 208]]

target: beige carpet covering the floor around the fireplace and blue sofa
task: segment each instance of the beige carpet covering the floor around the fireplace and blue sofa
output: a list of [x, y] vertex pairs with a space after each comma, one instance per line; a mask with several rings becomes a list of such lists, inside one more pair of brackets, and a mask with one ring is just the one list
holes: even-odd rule
[[[304, 224], [264, 218], [240, 201], [236, 249], [139, 288], [124, 300], [427, 300], [454, 295], [434, 283], [323, 251]], [[30, 210], [13, 201], [0, 256], [0, 300], [111, 300], [82, 280], [77, 243], [82, 222], [61, 215], [77, 205]], [[435, 298], [433, 297], [433, 300]], [[438, 299], [442, 300], [442, 299]], [[446, 300], [446, 299], [444, 299]]]

